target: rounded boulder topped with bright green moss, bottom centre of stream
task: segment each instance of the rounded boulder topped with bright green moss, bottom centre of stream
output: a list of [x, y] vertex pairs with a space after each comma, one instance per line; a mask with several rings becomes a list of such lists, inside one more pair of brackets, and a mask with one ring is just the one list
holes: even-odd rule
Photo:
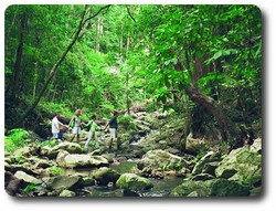
[[153, 187], [152, 182], [144, 177], [135, 173], [124, 173], [119, 177], [116, 186], [121, 189], [129, 189], [134, 191], [148, 190]]

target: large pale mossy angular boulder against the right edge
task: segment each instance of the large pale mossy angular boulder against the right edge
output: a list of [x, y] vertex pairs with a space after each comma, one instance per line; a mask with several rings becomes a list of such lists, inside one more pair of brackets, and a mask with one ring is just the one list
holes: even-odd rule
[[262, 155], [248, 146], [232, 150], [215, 169], [215, 176], [254, 186], [262, 181]]

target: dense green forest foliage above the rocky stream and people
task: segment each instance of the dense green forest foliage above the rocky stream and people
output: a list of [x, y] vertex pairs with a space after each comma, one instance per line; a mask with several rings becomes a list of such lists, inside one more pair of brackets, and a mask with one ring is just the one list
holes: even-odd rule
[[[100, 8], [88, 6], [86, 18]], [[83, 10], [7, 9], [7, 128], [38, 96]], [[38, 126], [57, 110], [71, 117], [82, 108], [87, 120], [94, 113], [109, 117], [114, 109], [172, 107], [188, 110], [193, 130], [204, 135], [220, 118], [210, 116], [204, 103], [191, 101], [187, 88], [193, 84], [232, 122], [261, 129], [261, 71], [262, 17], [254, 6], [110, 6], [85, 23], [33, 115], [21, 126]]]

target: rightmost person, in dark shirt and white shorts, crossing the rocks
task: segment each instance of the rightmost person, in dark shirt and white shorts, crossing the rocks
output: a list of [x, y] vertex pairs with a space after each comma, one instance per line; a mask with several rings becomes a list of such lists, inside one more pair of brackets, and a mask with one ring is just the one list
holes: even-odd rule
[[118, 112], [114, 112], [113, 117], [108, 120], [106, 124], [104, 130], [109, 126], [109, 133], [110, 133], [110, 141], [108, 144], [109, 149], [113, 147], [113, 140], [117, 138], [117, 149], [120, 149], [120, 138], [118, 136], [118, 122], [117, 117], [119, 116]]

